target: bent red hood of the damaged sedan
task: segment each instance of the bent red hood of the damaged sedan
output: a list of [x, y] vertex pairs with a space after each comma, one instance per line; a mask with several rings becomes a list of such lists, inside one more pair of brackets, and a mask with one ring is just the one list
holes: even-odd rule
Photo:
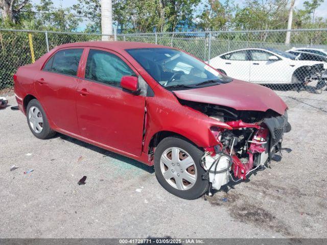
[[226, 106], [240, 111], [265, 112], [271, 109], [284, 115], [287, 109], [285, 102], [270, 88], [239, 80], [174, 93], [181, 100]]

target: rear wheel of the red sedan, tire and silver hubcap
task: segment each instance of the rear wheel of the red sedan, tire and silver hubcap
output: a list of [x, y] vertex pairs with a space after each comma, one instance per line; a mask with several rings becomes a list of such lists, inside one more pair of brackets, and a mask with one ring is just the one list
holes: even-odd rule
[[47, 139], [53, 137], [56, 132], [53, 131], [44, 113], [41, 104], [37, 100], [31, 100], [26, 108], [27, 123], [35, 137]]

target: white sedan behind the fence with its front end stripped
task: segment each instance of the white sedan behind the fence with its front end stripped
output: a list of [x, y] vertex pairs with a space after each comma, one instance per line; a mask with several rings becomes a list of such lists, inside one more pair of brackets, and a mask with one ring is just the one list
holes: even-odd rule
[[273, 48], [245, 48], [219, 55], [209, 64], [228, 77], [259, 84], [306, 84], [326, 62], [296, 60]]

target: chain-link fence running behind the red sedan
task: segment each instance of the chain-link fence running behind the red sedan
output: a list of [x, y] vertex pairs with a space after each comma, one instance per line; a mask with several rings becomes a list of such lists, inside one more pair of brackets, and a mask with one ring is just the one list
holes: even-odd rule
[[[229, 77], [262, 84], [282, 96], [327, 102], [327, 29], [120, 34], [111, 38], [180, 48]], [[100, 34], [0, 29], [0, 93], [13, 87], [12, 76], [19, 66], [32, 63], [57, 45], [101, 39]]]

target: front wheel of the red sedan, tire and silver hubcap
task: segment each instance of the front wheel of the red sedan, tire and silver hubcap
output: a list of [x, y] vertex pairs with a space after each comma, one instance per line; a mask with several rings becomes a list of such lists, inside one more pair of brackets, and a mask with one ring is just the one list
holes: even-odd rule
[[[178, 158], [172, 156], [173, 152]], [[154, 170], [158, 182], [179, 198], [192, 200], [201, 197], [209, 187], [208, 180], [202, 179], [205, 173], [200, 165], [202, 156], [203, 151], [184, 139], [167, 137], [161, 140], [154, 153]]]

